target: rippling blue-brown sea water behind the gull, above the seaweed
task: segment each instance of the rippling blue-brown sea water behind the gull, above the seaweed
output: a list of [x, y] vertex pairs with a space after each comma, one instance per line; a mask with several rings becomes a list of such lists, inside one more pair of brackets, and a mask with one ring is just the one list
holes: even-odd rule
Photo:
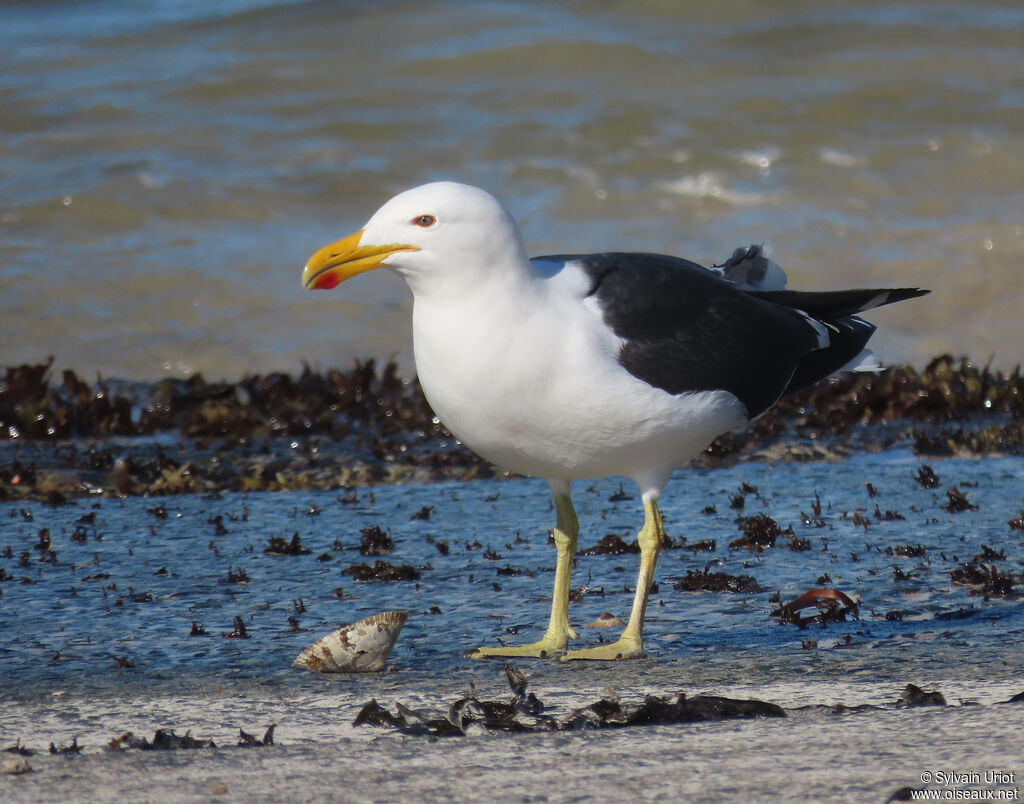
[[878, 351], [1012, 368], [1024, 298], [1013, 2], [0, 4], [0, 357], [209, 378], [410, 359], [379, 272], [299, 287], [394, 193], [453, 178], [534, 253], [932, 288]]

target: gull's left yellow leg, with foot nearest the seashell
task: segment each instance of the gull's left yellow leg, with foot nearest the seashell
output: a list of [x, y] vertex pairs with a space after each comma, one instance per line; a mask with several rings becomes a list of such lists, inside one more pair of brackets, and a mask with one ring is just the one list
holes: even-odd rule
[[489, 657], [535, 657], [542, 659], [565, 650], [569, 638], [575, 638], [575, 631], [569, 625], [569, 585], [572, 575], [572, 560], [575, 556], [577, 538], [580, 536], [580, 521], [577, 519], [568, 486], [552, 485], [555, 496], [556, 524], [554, 530], [555, 588], [551, 595], [551, 620], [544, 638], [528, 645], [502, 647], [478, 647], [469, 654], [470, 659]]

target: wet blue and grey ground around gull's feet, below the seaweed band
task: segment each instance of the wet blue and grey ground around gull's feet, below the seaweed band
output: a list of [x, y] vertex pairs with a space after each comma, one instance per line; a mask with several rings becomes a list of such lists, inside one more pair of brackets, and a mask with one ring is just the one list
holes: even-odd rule
[[[1019, 458], [935, 461], [941, 483], [924, 490], [915, 479], [920, 466], [897, 451], [836, 464], [679, 472], [664, 499], [669, 534], [690, 542], [716, 539], [717, 549], [663, 554], [645, 631], [647, 657], [517, 663], [549, 711], [567, 713], [610, 686], [634, 703], [647, 693], [678, 691], [758, 697], [785, 708], [787, 719], [477, 733], [440, 743], [351, 722], [371, 697], [392, 709], [401, 702], [439, 713], [471, 689], [481, 699], [508, 695], [501, 663], [474, 662], [462, 651], [511, 638], [509, 627], [520, 627], [519, 640], [543, 630], [554, 558], [545, 483], [382, 486], [359, 490], [357, 502], [347, 503], [337, 493], [294, 492], [6, 506], [0, 509], [0, 549], [10, 545], [12, 557], [0, 559], [0, 566], [13, 580], [0, 584], [0, 619], [7, 624], [0, 646], [0, 743], [19, 738], [45, 751], [50, 740], [67, 745], [78, 735], [83, 754], [31, 757], [37, 772], [0, 776], [4, 799], [39, 800], [57, 785], [67, 800], [91, 799], [97, 790], [103, 800], [131, 798], [144, 773], [154, 795], [174, 801], [201, 800], [221, 786], [231, 797], [261, 801], [286, 793], [331, 800], [339, 791], [346, 800], [388, 801], [414, 789], [425, 800], [483, 793], [498, 800], [562, 801], [635, 795], [639, 773], [651, 796], [884, 801], [897, 788], [920, 785], [926, 770], [1019, 774], [1022, 715], [1018, 706], [999, 702], [1024, 689], [1024, 605], [1019, 597], [972, 595], [951, 584], [949, 573], [987, 545], [1006, 552], [991, 562], [1000, 573], [1020, 577], [1024, 541], [1008, 520], [1024, 508], [1024, 469]], [[811, 540], [811, 550], [793, 552], [779, 537], [761, 555], [730, 551], [728, 542], [739, 536], [730, 501], [743, 483], [757, 492], [748, 490], [740, 513], [764, 512], [782, 527], [792, 524], [798, 537]], [[953, 485], [978, 507], [944, 510], [945, 492]], [[639, 502], [609, 500], [616, 492], [612, 480], [578, 485], [581, 547], [607, 533], [632, 540]], [[815, 495], [820, 515], [812, 511]], [[157, 518], [158, 505], [166, 507], [167, 518]], [[702, 513], [707, 505], [716, 513]], [[879, 518], [876, 505], [879, 513], [905, 518]], [[429, 518], [411, 519], [424, 506], [432, 507]], [[866, 528], [853, 521], [858, 511], [870, 520]], [[82, 525], [86, 541], [72, 541], [76, 521], [89, 513], [95, 518]], [[807, 523], [804, 514], [820, 522]], [[218, 515], [227, 530], [219, 536], [210, 521]], [[360, 531], [370, 525], [384, 527], [395, 541], [386, 560], [429, 564], [418, 583], [356, 584], [341, 574], [376, 560], [357, 551]], [[50, 528], [56, 563], [40, 563], [32, 548], [41, 527]], [[296, 532], [311, 554], [263, 554], [269, 536]], [[437, 549], [440, 541], [447, 542], [447, 555]], [[925, 555], [885, 552], [900, 545], [921, 545]], [[28, 567], [17, 563], [23, 550], [31, 554]], [[485, 557], [488, 550], [501, 557]], [[323, 553], [330, 560], [317, 561]], [[766, 591], [673, 589], [688, 569], [715, 560], [722, 563], [713, 570], [752, 575]], [[570, 609], [578, 626], [606, 610], [627, 616], [632, 595], [623, 590], [635, 582], [636, 561], [635, 555], [580, 557], [573, 584], [587, 583], [588, 592]], [[894, 565], [911, 578], [895, 581]], [[500, 575], [506, 566], [526, 574]], [[155, 575], [161, 567], [168, 575]], [[245, 568], [250, 583], [220, 583], [228, 567]], [[823, 574], [830, 580], [819, 582]], [[860, 620], [800, 630], [771, 616], [773, 590], [785, 601], [821, 585], [861, 598]], [[340, 598], [338, 586], [344, 589]], [[132, 602], [129, 589], [153, 601]], [[298, 598], [307, 609], [297, 615], [306, 632], [288, 624]], [[432, 606], [440, 612], [432, 613]], [[395, 607], [411, 617], [391, 672], [329, 677], [290, 667], [321, 634]], [[893, 611], [902, 620], [886, 618]], [[221, 636], [236, 616], [246, 622], [246, 640]], [[208, 635], [189, 636], [193, 621]], [[597, 639], [596, 629], [581, 632], [583, 640]], [[816, 649], [803, 648], [808, 639], [816, 640]], [[115, 669], [119, 657], [135, 668]], [[892, 709], [911, 682], [939, 689], [952, 706]], [[837, 716], [817, 708], [836, 704], [885, 709]], [[261, 734], [271, 722], [278, 724], [273, 748], [228, 748], [238, 728]], [[152, 736], [156, 728], [179, 734], [190, 728], [221, 748], [102, 751], [125, 730]]]

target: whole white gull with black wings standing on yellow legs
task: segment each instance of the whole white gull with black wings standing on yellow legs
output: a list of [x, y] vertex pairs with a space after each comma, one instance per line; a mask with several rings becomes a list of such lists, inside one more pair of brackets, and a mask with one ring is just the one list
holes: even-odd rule
[[[469, 655], [620, 660], [643, 654], [643, 622], [666, 538], [657, 501], [672, 472], [785, 393], [840, 371], [881, 368], [864, 310], [918, 288], [797, 292], [764, 249], [711, 268], [611, 252], [530, 259], [512, 215], [478, 187], [440, 181], [395, 196], [358, 231], [316, 251], [308, 290], [387, 267], [413, 293], [423, 391], [463, 443], [547, 479], [556, 565], [544, 636]], [[573, 480], [631, 478], [643, 501], [640, 569], [621, 637], [567, 650], [580, 523]]]

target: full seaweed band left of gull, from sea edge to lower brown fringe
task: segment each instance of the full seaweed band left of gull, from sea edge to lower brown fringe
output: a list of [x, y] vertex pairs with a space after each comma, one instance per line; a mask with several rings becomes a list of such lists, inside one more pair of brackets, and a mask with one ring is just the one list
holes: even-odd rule
[[[349, 489], [494, 474], [455, 442], [419, 384], [400, 378], [394, 364], [152, 384], [89, 384], [70, 370], [56, 381], [51, 367], [52, 359], [0, 375], [0, 500], [56, 504], [96, 494]], [[121, 436], [116, 446], [103, 440], [111, 436]]]

